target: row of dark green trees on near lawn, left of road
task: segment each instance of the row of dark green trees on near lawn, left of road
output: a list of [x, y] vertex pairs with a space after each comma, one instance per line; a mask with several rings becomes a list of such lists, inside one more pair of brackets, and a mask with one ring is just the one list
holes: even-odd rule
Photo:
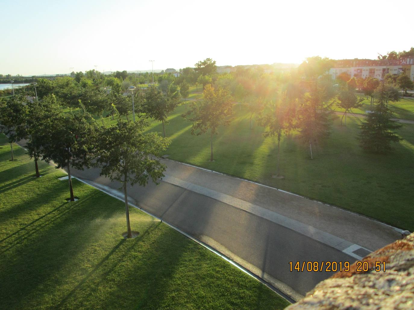
[[[71, 168], [83, 170], [101, 167], [101, 175], [123, 184], [127, 236], [132, 236], [128, 212], [127, 183], [145, 186], [149, 178], [158, 184], [166, 169], [159, 161], [161, 152], [168, 147], [168, 139], [156, 133], [144, 134], [149, 120], [139, 115], [137, 122], [118, 122], [104, 127], [86, 110], [63, 113], [55, 95], [28, 101], [15, 95], [0, 107], [0, 129], [10, 145], [27, 139], [26, 148], [34, 158], [36, 177], [40, 176], [38, 161], [53, 161], [56, 168], [68, 173], [70, 198]], [[13, 160], [12, 153], [12, 160]]]

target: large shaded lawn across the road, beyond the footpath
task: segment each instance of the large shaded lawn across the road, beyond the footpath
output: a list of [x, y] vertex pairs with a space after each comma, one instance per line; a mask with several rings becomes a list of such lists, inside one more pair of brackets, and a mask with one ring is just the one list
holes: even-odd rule
[[[274, 179], [277, 141], [263, 138], [263, 128], [254, 123], [249, 129], [249, 114], [234, 107], [235, 119], [230, 126], [219, 129], [214, 136], [215, 162], [209, 162], [209, 135], [192, 136], [191, 123], [181, 114], [179, 106], [169, 117], [166, 135], [172, 143], [166, 154], [171, 159], [199, 167], [224, 172], [298, 193], [373, 217], [388, 224], [414, 230], [414, 125], [404, 124], [398, 134], [404, 138], [394, 145], [389, 155], [364, 153], [356, 139], [358, 124], [355, 117], [340, 126], [334, 116], [332, 134], [324, 145], [315, 148], [314, 160], [309, 159], [308, 147], [293, 133], [281, 142], [281, 174]], [[162, 131], [154, 122], [151, 131]]]

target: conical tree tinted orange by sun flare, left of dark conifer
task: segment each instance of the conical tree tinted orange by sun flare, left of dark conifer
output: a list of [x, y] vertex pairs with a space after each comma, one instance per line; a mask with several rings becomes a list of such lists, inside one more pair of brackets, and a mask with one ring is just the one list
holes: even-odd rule
[[309, 143], [310, 159], [313, 159], [312, 143], [326, 139], [330, 135], [332, 103], [323, 101], [324, 92], [315, 80], [310, 91], [304, 97], [303, 104], [299, 107], [298, 127], [299, 136]]

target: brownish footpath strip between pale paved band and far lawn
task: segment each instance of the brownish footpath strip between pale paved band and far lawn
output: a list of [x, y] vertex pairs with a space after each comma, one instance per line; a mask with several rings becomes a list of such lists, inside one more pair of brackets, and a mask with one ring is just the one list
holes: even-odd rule
[[226, 194], [358, 244], [371, 251], [394, 242], [401, 236], [399, 231], [386, 224], [337, 207], [180, 162], [162, 161], [167, 165], [167, 170], [164, 173], [166, 178], [163, 181], [173, 183], [171, 177], [174, 177]]

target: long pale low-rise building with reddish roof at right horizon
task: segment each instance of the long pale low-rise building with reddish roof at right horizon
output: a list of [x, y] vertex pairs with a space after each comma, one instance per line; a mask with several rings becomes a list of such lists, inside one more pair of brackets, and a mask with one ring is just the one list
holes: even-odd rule
[[337, 60], [335, 68], [329, 70], [332, 79], [346, 72], [351, 78], [367, 78], [368, 76], [377, 79], [384, 79], [385, 74], [405, 73], [414, 81], [414, 58], [392, 59], [392, 60], [371, 60], [371, 59], [343, 59]]

